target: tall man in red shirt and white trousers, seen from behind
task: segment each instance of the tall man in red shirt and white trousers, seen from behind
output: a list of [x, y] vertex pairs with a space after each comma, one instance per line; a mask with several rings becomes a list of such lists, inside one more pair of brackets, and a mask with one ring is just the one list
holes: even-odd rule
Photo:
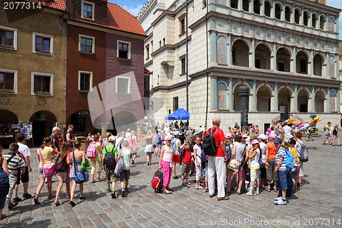
[[229, 199], [229, 197], [225, 197], [224, 191], [224, 182], [226, 179], [226, 165], [225, 162], [228, 160], [226, 153], [226, 145], [224, 141], [226, 138], [224, 137], [224, 133], [222, 129], [220, 129], [221, 121], [219, 118], [213, 118], [213, 127], [208, 129], [206, 132], [206, 136], [209, 134], [209, 131], [215, 136], [215, 143], [218, 146], [218, 151], [208, 156], [208, 186], [209, 186], [209, 197], [215, 196], [215, 172], [218, 180], [218, 201]]

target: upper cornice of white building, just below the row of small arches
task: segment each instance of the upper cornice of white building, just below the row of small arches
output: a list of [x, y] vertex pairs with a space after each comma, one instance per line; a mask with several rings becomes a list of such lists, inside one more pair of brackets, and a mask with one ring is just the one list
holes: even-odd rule
[[[246, 18], [239, 18], [236, 16], [231, 16], [231, 15], [226, 15], [226, 14], [222, 14], [219, 12], [208, 12], [207, 14], [205, 14], [205, 16], [203, 16], [202, 18], [198, 19], [198, 21], [196, 21], [195, 23], [193, 23], [192, 25], [189, 26], [189, 29], [196, 29], [197, 27], [200, 27], [201, 25], [205, 24], [206, 19], [208, 21], [213, 20], [215, 18], [221, 18], [224, 20], [231, 20], [231, 21], [235, 21], [238, 23], [244, 23], [246, 25], [253, 25], [253, 26], [257, 26], [257, 27], [261, 27], [261, 28], [267, 28], [270, 30], [275, 30], [275, 31], [281, 31], [281, 32], [285, 32], [287, 34], [295, 34], [295, 35], [299, 35], [299, 36], [306, 36], [308, 38], [316, 38], [319, 40], [328, 40], [330, 42], [340, 42], [340, 40], [338, 39], [334, 39], [334, 38], [327, 38], [325, 36], [317, 36], [315, 34], [308, 34], [306, 32], [303, 31], [297, 31], [297, 30], [293, 30], [293, 29], [289, 29], [289, 28], [284, 28], [284, 27], [279, 27], [277, 25], [267, 25], [265, 23], [261, 23], [258, 21], [251, 21], [248, 20]], [[304, 25], [302, 25], [304, 26]], [[337, 33], [332, 33], [332, 34], [337, 34]], [[238, 35], [238, 34], [235, 34]]]

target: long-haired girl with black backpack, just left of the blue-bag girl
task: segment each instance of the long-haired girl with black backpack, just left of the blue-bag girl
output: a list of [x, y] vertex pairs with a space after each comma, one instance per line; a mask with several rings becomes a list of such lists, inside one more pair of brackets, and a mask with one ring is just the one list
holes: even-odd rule
[[[60, 182], [60, 184], [57, 187], [56, 190], [56, 199], [55, 199], [55, 205], [58, 206], [60, 205], [60, 201], [58, 200], [58, 198], [60, 197], [60, 192], [62, 190], [63, 187], [63, 181], [65, 180], [66, 183], [66, 199], [70, 199], [70, 178], [69, 178], [69, 174], [70, 174], [70, 164], [68, 164], [68, 157], [70, 157], [70, 152], [71, 152], [71, 144], [70, 142], [64, 142], [63, 146], [62, 146], [62, 150], [57, 153], [57, 159], [56, 159], [56, 163], [55, 163], [55, 170], [57, 171], [57, 177], [58, 177], [58, 181]], [[60, 168], [60, 170], [64, 170], [65, 171], [58, 171], [58, 169]]]

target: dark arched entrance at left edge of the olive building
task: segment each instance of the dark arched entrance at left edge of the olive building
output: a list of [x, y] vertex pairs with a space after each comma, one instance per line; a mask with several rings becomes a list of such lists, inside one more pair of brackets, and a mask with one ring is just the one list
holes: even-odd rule
[[14, 141], [14, 130], [12, 125], [18, 124], [18, 117], [8, 110], [0, 110], [0, 144], [8, 148]]

